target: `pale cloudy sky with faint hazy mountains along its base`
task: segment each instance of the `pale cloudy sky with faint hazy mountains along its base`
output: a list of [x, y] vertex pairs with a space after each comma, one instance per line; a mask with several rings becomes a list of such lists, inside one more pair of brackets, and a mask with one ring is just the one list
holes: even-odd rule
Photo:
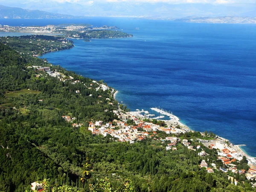
[[75, 16], [256, 17], [256, 0], [0, 0], [0, 5]]

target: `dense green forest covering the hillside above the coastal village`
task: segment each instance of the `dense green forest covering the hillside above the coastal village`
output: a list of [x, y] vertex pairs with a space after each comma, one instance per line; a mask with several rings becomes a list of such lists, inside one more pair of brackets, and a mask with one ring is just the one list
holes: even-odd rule
[[[15, 42], [11, 48], [0, 43], [0, 191], [30, 191], [35, 181], [52, 192], [256, 191], [244, 175], [236, 175], [235, 186], [219, 170], [200, 169], [202, 160], [219, 163], [216, 150], [204, 148], [209, 156], [201, 157], [180, 143], [170, 152], [166, 143], [151, 138], [130, 144], [93, 135], [89, 121], [118, 119], [111, 112], [118, 109], [113, 89], [96, 90], [92, 79], [26, 54], [30, 48], [22, 52], [23, 42], [31, 38], [16, 39], [8, 39]], [[34, 65], [73, 79], [60, 81]], [[66, 115], [72, 121], [62, 118]], [[76, 128], [73, 123], [83, 125]], [[197, 133], [189, 134], [180, 137]], [[246, 163], [239, 166], [248, 169]]]

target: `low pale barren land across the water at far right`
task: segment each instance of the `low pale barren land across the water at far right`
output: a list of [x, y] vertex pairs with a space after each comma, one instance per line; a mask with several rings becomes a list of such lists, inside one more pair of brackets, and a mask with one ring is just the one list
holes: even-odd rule
[[256, 17], [184, 17], [175, 21], [187, 23], [253, 23], [256, 24]]

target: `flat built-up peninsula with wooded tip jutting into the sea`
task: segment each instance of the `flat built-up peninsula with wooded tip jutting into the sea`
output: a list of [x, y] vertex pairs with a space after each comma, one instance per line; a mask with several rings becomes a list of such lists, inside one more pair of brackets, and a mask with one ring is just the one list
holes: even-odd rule
[[62, 24], [47, 26], [8, 26], [0, 25], [0, 32], [22, 32], [37, 35], [54, 35], [65, 38], [100, 39], [100, 38], [128, 38], [133, 37], [117, 30], [116, 26], [94, 27], [90, 24]]

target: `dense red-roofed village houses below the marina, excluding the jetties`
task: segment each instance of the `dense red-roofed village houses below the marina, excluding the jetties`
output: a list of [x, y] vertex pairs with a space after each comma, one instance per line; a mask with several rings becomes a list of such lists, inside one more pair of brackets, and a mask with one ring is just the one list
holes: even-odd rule
[[[228, 140], [215, 136], [215, 139], [204, 140], [198, 139], [197, 141], [200, 145], [192, 145], [192, 139], [180, 139], [177, 135], [185, 134], [191, 130], [188, 130], [185, 125], [176, 124], [167, 124], [163, 127], [160, 125], [153, 124], [152, 122], [145, 122], [141, 119], [141, 116], [134, 116], [134, 112], [123, 113], [121, 111], [113, 111], [119, 119], [114, 120], [113, 122], [104, 123], [102, 121], [89, 122], [88, 130], [92, 132], [93, 135], [103, 135], [106, 137], [108, 134], [113, 138], [116, 138], [119, 142], [129, 142], [134, 143], [137, 141], [143, 141], [146, 138], [152, 138], [153, 140], [159, 140], [162, 143], [167, 143], [166, 151], [176, 151], [177, 145], [181, 144], [186, 146], [188, 150], [198, 151], [198, 155], [203, 157], [205, 160], [202, 160], [199, 164], [200, 169], [205, 169], [208, 173], [213, 173], [215, 170], [220, 170], [224, 173], [232, 172], [233, 174], [245, 174], [247, 180], [252, 181], [251, 184], [256, 187], [255, 178], [256, 178], [256, 167], [255, 163], [252, 161], [252, 158], [247, 157], [248, 165], [250, 168], [237, 169], [237, 163], [242, 161], [244, 154], [239, 150], [236, 150], [233, 147], [233, 144], [229, 143]], [[128, 125], [127, 122], [133, 122], [134, 125]], [[80, 126], [73, 124], [73, 126]], [[170, 137], [157, 137], [159, 131], [163, 131], [166, 134], [170, 134]], [[193, 131], [191, 131], [193, 132]], [[171, 136], [172, 135], [172, 136]], [[175, 136], [174, 136], [175, 135]], [[201, 133], [201, 136], [204, 137], [205, 133]], [[216, 149], [218, 151], [218, 161], [222, 162], [221, 166], [217, 166], [216, 163], [207, 163], [207, 154], [204, 151], [204, 147], [211, 149]], [[237, 163], [234, 163], [237, 162]], [[235, 177], [228, 176], [232, 183], [237, 184]]]

